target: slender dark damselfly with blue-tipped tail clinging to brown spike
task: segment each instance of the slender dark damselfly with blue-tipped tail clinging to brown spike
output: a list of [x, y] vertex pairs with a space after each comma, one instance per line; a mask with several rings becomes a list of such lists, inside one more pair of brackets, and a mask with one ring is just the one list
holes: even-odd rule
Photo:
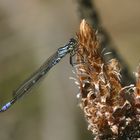
[[34, 72], [13, 92], [13, 98], [1, 108], [0, 112], [6, 111], [23, 95], [27, 94], [31, 88], [35, 86], [66, 54], [72, 53], [75, 50], [76, 45], [77, 41], [72, 38], [68, 44], [60, 47], [36, 72]]

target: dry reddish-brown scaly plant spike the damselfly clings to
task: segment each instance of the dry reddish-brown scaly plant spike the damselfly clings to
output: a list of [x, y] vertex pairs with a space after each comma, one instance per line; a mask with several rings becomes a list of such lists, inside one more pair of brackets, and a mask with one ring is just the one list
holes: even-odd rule
[[140, 138], [140, 68], [136, 86], [122, 87], [118, 61], [104, 61], [97, 33], [85, 20], [77, 38], [75, 71], [88, 129], [95, 140]]

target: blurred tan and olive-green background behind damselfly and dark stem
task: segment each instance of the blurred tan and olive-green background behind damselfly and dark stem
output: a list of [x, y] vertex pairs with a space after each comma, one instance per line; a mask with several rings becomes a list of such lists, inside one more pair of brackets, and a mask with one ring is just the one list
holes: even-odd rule
[[[140, 62], [140, 1], [94, 0], [131, 72]], [[86, 17], [85, 17], [86, 18]], [[0, 0], [0, 105], [79, 30], [76, 0]], [[87, 140], [69, 56], [28, 96], [0, 114], [0, 140]]]

